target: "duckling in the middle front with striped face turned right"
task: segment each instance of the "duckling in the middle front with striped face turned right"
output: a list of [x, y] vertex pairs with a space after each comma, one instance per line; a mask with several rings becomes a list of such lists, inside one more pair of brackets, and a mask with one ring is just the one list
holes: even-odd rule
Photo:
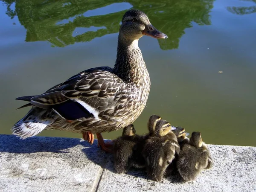
[[149, 137], [145, 142], [143, 156], [146, 161], [148, 177], [160, 181], [167, 166], [172, 163], [175, 152], [180, 152], [177, 137], [171, 131], [172, 126], [165, 120], [156, 123], [154, 137]]

